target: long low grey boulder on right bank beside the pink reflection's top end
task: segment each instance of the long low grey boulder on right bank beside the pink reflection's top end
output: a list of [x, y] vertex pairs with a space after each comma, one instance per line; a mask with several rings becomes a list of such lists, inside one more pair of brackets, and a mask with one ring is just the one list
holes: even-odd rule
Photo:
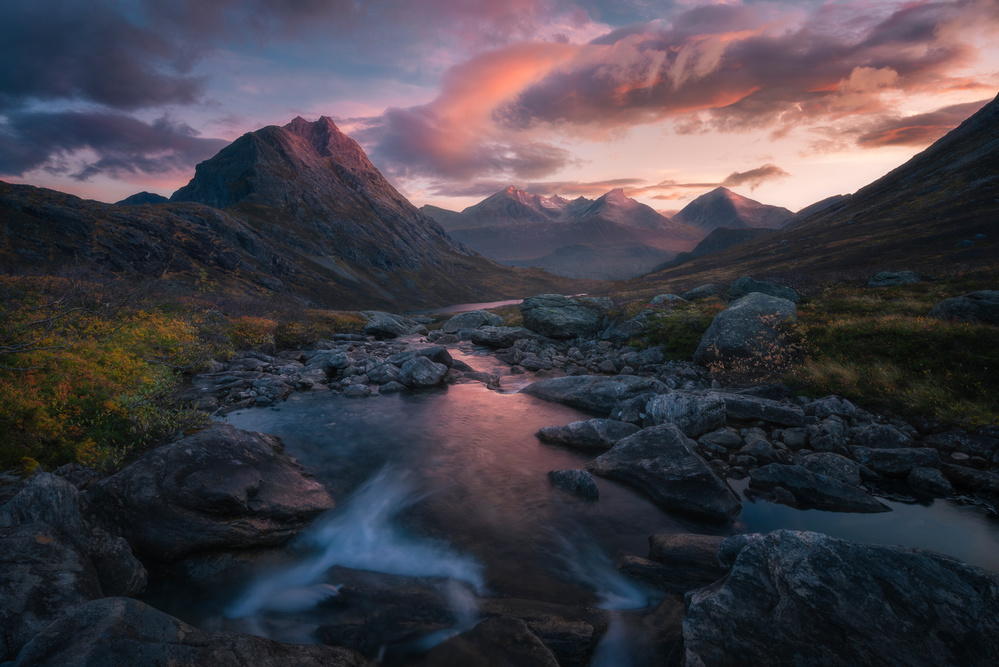
[[660, 394], [668, 390], [665, 384], [655, 378], [635, 375], [575, 375], [540, 380], [527, 385], [521, 392], [606, 416], [621, 401], [649, 392]]

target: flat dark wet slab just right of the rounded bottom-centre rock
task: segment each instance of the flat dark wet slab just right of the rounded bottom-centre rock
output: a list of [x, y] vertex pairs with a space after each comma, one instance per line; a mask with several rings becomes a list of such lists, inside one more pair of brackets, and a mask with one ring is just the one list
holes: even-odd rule
[[516, 598], [482, 600], [480, 613], [487, 617], [507, 616], [524, 621], [551, 649], [562, 667], [588, 665], [609, 620], [603, 609]]

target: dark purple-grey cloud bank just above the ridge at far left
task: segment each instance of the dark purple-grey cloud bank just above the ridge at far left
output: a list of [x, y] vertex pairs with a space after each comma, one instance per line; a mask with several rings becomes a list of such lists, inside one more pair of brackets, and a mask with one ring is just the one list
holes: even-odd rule
[[[199, 137], [167, 118], [145, 123], [116, 112], [11, 114], [0, 124], [0, 174], [20, 176], [38, 168], [78, 180], [159, 174], [189, 169], [226, 143]], [[96, 158], [71, 158], [85, 149]]]

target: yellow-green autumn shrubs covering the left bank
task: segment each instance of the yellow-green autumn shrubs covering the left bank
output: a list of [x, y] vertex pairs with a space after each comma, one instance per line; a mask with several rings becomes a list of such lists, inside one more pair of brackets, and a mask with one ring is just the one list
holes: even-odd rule
[[363, 325], [351, 313], [219, 301], [103, 278], [0, 276], [0, 470], [25, 460], [117, 468], [204, 426], [179, 404], [186, 375], [237, 350], [302, 347]]

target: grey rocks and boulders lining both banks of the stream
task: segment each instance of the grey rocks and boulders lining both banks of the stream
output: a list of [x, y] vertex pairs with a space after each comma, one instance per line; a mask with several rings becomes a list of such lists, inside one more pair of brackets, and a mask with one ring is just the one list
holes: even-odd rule
[[[793, 317], [794, 301], [766, 289], [716, 318], [700, 362], [751, 356], [760, 340], [778, 340], [768, 317]], [[609, 307], [542, 295], [524, 302], [524, 327], [472, 312], [433, 332], [428, 322], [371, 312], [363, 335], [219, 364], [194, 379], [188, 398], [225, 414], [279, 407], [295, 391], [378, 400], [454, 382], [500, 387], [499, 375], [452, 358], [448, 345], [470, 341], [493, 349], [511, 373], [533, 373], [525, 393], [593, 414], [538, 434], [594, 455], [587, 470], [549, 474], [584, 498], [599, 495], [595, 473], [667, 511], [719, 524], [746, 500], [839, 512], [890, 511], [885, 497], [999, 506], [999, 432], [940, 433], [835, 396], [722, 387], [703, 366], [622, 346], [643, 318], [614, 321]], [[728, 480], [746, 478], [743, 497]], [[217, 424], [109, 477], [79, 466], [28, 480], [5, 474], [0, 502], [0, 661], [14, 665], [362, 665], [385, 643], [458, 623], [442, 582], [344, 568], [330, 575], [342, 585], [341, 606], [316, 619], [318, 645], [206, 632], [133, 599], [147, 570], [238, 571], [248, 554], [266, 553], [334, 506], [272, 436]], [[626, 556], [619, 568], [664, 596], [632, 619], [651, 637], [650, 662], [999, 663], [999, 574], [940, 554], [788, 530], [652, 535], [649, 553]], [[484, 620], [419, 664], [586, 665], [610, 624], [599, 609], [479, 602]]]

